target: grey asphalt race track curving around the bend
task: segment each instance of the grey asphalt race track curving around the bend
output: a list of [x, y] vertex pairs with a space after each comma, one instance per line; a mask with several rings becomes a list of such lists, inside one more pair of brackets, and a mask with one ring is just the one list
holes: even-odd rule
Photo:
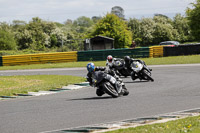
[[[0, 101], [0, 132], [38, 133], [121, 121], [200, 107], [200, 64], [151, 66], [154, 82], [123, 78], [126, 97], [97, 97], [85, 87]], [[86, 76], [85, 68], [0, 71], [0, 75]]]

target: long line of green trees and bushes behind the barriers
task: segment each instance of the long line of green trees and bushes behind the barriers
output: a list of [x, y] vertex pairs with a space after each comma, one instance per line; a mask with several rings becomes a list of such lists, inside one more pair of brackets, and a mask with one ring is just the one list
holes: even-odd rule
[[63, 24], [32, 18], [30, 22], [0, 22], [0, 50], [83, 50], [83, 41], [96, 35], [114, 38], [115, 48], [157, 45], [162, 41], [193, 42], [200, 40], [200, 0], [192, 3], [185, 15], [169, 18], [155, 14], [152, 18], [124, 20], [113, 13], [103, 17], [81, 16]]

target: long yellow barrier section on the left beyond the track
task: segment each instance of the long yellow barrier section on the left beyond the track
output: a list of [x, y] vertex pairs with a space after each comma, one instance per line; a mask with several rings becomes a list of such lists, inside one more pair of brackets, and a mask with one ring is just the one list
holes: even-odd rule
[[2, 66], [44, 64], [77, 61], [77, 51], [2, 56]]

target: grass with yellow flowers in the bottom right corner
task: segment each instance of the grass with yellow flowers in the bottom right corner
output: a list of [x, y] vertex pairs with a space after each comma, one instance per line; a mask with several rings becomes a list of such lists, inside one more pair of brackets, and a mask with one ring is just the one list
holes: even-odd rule
[[166, 123], [120, 129], [106, 133], [200, 133], [200, 116], [187, 117]]

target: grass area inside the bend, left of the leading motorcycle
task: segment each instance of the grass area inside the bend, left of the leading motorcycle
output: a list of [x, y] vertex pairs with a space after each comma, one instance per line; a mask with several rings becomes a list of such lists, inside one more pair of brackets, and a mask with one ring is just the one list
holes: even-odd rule
[[0, 96], [50, 90], [84, 81], [83, 77], [65, 75], [0, 76]]

